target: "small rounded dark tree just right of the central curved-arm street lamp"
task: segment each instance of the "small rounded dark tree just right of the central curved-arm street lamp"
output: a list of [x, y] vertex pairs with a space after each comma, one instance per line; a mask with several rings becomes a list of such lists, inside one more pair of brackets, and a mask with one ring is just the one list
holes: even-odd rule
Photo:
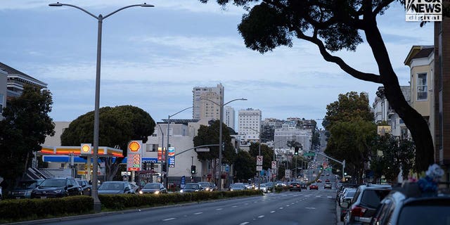
[[236, 181], [248, 180], [255, 176], [256, 162], [252, 155], [245, 150], [238, 150], [234, 160], [234, 171], [236, 173]]

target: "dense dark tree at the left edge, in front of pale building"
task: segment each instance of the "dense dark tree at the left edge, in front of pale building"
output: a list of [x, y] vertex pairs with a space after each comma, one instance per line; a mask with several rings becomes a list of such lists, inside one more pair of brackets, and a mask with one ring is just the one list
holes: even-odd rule
[[41, 150], [46, 136], [55, 134], [52, 104], [49, 90], [31, 85], [6, 104], [0, 121], [0, 176], [11, 184], [8, 188], [31, 167], [33, 153]]

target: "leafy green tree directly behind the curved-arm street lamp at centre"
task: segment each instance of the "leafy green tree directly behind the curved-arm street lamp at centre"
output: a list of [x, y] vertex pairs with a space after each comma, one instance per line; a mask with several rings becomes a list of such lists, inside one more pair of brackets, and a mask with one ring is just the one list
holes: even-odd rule
[[[210, 126], [200, 125], [198, 129], [197, 136], [194, 137], [194, 146], [203, 146], [209, 144], [219, 143], [219, 120], [214, 121]], [[231, 144], [231, 136], [226, 124], [222, 124], [222, 141], [225, 143], [224, 151], [222, 152], [222, 163], [229, 164], [233, 163], [236, 158], [236, 151]], [[209, 152], [197, 153], [197, 158], [200, 161], [205, 160], [215, 160], [219, 158], [219, 146], [209, 147]]]

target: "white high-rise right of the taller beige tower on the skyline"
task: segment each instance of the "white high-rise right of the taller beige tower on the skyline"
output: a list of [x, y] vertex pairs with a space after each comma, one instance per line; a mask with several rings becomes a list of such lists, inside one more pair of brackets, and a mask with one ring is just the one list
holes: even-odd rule
[[258, 142], [261, 131], [261, 110], [248, 108], [238, 112], [238, 128], [242, 143]]

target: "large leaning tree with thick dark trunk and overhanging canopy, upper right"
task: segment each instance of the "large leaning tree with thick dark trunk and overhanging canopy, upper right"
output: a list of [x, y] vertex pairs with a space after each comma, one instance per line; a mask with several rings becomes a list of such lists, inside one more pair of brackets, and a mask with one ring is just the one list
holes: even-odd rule
[[[208, 0], [199, 0], [206, 3]], [[225, 6], [230, 2], [243, 6], [238, 31], [245, 46], [266, 53], [278, 46], [293, 46], [293, 39], [315, 44], [324, 60], [335, 63], [348, 75], [367, 82], [382, 84], [387, 101], [411, 131], [416, 144], [416, 165], [425, 171], [434, 162], [434, 146], [428, 123], [404, 98], [399, 79], [394, 72], [389, 53], [378, 29], [377, 16], [396, 0], [217, 0]], [[404, 5], [404, 1], [399, 1]], [[448, 8], [444, 9], [448, 15]], [[342, 58], [333, 56], [336, 51], [356, 51], [364, 39], [372, 50], [378, 74], [352, 68]]]

